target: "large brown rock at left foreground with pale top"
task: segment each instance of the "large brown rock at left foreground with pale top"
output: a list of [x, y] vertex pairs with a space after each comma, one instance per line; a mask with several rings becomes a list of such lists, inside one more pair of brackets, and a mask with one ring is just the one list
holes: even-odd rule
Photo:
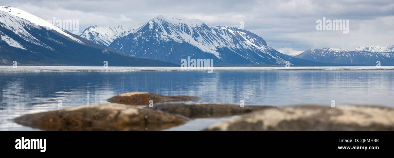
[[162, 130], [181, 125], [188, 118], [159, 110], [106, 103], [28, 114], [14, 121], [43, 130]]

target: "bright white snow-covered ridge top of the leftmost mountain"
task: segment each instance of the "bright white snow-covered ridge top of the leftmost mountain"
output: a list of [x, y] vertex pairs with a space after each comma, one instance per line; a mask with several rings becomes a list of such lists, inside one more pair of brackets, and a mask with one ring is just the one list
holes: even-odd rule
[[65, 31], [63, 31], [63, 29], [58, 28], [57, 26], [51, 24], [50, 22], [48, 22], [42, 18], [36, 17], [36, 16], [34, 16], [26, 11], [23, 11], [21, 9], [18, 9], [15, 7], [8, 7], [8, 6], [0, 6], [0, 11], [4, 11], [10, 15], [13, 15], [13, 16], [16, 16], [19, 18], [23, 18], [23, 19], [28, 20], [29, 22], [31, 22], [37, 26], [42, 26], [46, 29], [54, 30], [62, 35], [65, 35], [66, 37], [69, 37], [72, 40], [75, 40], [76, 42], [83, 43], [81, 40], [73, 37], [72, 35], [66, 33]]

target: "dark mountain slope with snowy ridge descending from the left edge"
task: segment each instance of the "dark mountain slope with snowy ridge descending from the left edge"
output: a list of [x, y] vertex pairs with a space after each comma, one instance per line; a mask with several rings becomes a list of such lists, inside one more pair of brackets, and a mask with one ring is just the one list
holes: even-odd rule
[[14, 7], [0, 6], [0, 39], [0, 65], [176, 66], [100, 46]]

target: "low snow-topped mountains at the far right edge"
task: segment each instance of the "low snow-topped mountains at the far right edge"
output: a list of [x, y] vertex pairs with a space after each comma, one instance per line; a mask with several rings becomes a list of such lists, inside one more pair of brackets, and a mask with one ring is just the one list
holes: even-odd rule
[[335, 48], [310, 49], [296, 55], [300, 59], [335, 64], [376, 65], [380, 61], [382, 66], [394, 65], [394, 45], [387, 47], [367, 46], [352, 50]]

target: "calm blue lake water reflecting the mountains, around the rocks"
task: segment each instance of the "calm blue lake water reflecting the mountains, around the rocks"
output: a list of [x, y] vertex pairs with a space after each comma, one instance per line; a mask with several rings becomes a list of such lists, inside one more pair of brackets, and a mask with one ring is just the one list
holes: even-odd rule
[[[284, 106], [394, 107], [394, 70], [0, 72], [0, 130], [37, 130], [11, 119], [23, 114], [107, 103], [125, 92], [202, 97], [198, 102]], [[196, 119], [169, 130], [200, 130], [221, 119]]]

